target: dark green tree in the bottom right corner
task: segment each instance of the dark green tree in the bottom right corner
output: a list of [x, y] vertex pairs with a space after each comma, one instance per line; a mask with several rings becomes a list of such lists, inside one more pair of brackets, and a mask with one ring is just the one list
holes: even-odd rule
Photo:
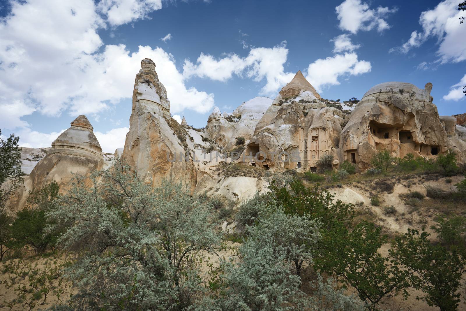
[[397, 260], [416, 271], [412, 284], [425, 295], [417, 297], [441, 311], [458, 310], [461, 276], [465, 260], [455, 250], [449, 252], [442, 246], [432, 245], [424, 230], [408, 230], [396, 239], [394, 252]]

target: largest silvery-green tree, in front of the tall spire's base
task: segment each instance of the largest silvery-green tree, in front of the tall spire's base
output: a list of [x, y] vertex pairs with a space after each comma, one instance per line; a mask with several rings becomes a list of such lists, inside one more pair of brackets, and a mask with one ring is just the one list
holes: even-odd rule
[[48, 213], [58, 245], [82, 255], [66, 273], [74, 308], [178, 311], [204, 296], [200, 263], [219, 249], [205, 196], [146, 185], [120, 159], [90, 180], [77, 178]]

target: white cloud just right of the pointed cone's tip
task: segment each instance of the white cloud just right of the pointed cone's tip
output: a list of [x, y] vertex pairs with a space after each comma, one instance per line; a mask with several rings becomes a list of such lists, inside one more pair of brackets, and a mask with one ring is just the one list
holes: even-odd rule
[[370, 70], [370, 62], [358, 61], [354, 52], [337, 54], [309, 64], [306, 79], [317, 91], [321, 91], [325, 86], [340, 84], [340, 76], [357, 76]]

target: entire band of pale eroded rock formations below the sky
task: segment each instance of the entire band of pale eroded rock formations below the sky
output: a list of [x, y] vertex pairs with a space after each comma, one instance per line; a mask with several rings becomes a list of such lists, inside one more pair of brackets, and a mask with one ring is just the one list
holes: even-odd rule
[[[400, 158], [408, 153], [432, 158], [452, 149], [460, 162], [466, 162], [466, 128], [459, 125], [464, 116], [439, 117], [431, 90], [431, 83], [424, 89], [401, 82], [378, 84], [351, 112], [352, 105], [322, 99], [298, 71], [274, 100], [256, 97], [233, 113], [215, 107], [206, 129], [196, 130], [185, 117], [182, 124], [171, 118], [164, 85], [154, 62], [146, 58], [134, 83], [130, 130], [115, 156], [148, 184], [156, 186], [167, 178], [182, 181], [191, 191], [236, 201], [265, 191], [261, 169], [314, 170], [328, 154], [335, 156], [335, 168], [348, 160], [359, 171], [368, 168], [374, 153], [382, 149]], [[236, 145], [239, 137], [245, 138], [245, 149], [232, 159], [231, 151], [242, 150]], [[228, 155], [219, 156], [217, 151]], [[71, 172], [86, 175], [106, 168], [113, 156], [102, 152], [89, 120], [79, 116], [52, 148], [23, 150], [23, 166], [30, 174], [12, 206], [21, 208], [29, 190], [52, 180], [66, 189]], [[230, 162], [249, 167], [244, 170]]]

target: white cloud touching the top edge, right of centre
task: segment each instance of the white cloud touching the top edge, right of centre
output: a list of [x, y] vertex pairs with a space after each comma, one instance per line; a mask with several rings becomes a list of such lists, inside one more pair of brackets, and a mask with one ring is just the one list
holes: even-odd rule
[[340, 21], [339, 27], [353, 34], [359, 30], [371, 30], [376, 27], [378, 32], [391, 28], [384, 18], [398, 10], [396, 7], [371, 9], [369, 4], [361, 0], [345, 0], [335, 9]]

